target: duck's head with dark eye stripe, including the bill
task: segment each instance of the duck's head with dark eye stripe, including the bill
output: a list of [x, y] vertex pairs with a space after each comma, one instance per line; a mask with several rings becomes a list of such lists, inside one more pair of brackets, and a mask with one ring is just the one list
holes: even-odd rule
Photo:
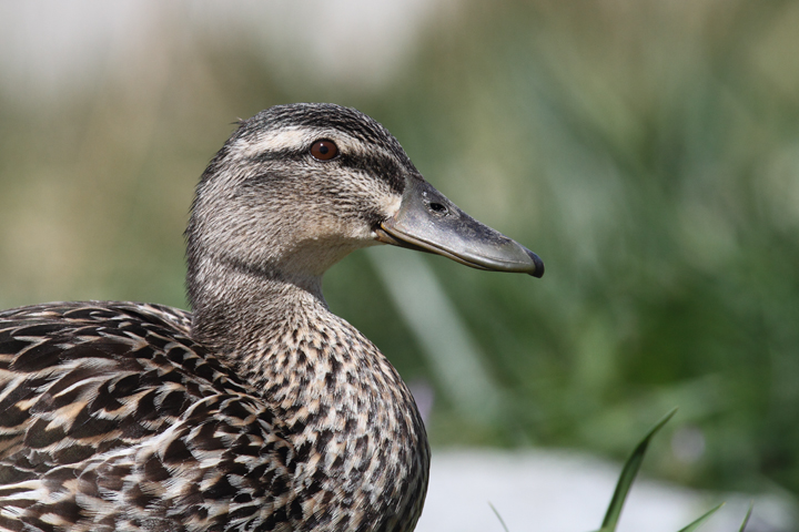
[[306, 284], [380, 243], [544, 274], [533, 252], [429, 185], [385, 127], [333, 104], [279, 105], [241, 122], [198, 185], [186, 237], [192, 299], [203, 284], [192, 278], [211, 263]]

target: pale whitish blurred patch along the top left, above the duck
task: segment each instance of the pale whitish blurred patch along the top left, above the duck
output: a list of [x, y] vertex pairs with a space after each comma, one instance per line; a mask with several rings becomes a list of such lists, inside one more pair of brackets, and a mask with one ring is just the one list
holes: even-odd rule
[[0, 2], [0, 90], [19, 99], [60, 96], [131, 69], [146, 75], [148, 58], [163, 60], [192, 47], [225, 42], [254, 45], [264, 68], [286, 83], [313, 79], [373, 90], [391, 81], [422, 30], [441, 21], [443, 7], [455, 3]]

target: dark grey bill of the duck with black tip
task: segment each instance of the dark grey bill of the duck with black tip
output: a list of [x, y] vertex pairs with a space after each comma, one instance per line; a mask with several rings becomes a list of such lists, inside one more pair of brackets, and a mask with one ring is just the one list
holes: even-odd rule
[[385, 244], [435, 253], [473, 268], [544, 275], [538, 255], [477, 222], [421, 178], [408, 180], [400, 209], [376, 233]]

